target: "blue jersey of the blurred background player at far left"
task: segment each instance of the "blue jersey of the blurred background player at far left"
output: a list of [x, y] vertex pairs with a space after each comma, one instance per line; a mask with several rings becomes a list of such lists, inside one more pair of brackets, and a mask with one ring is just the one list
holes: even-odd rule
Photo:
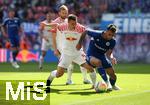
[[9, 37], [18, 36], [20, 28], [20, 21], [18, 18], [6, 18], [3, 22], [3, 26], [7, 28], [7, 34]]

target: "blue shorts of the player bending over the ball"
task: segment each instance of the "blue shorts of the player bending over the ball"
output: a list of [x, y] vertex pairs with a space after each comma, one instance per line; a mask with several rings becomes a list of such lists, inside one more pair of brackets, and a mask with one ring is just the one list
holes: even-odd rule
[[96, 66], [94, 66], [94, 65], [92, 65], [92, 64], [90, 63], [91, 57], [95, 57], [95, 58], [99, 59], [99, 60], [102, 62], [102, 67], [103, 67], [104, 69], [107, 69], [107, 68], [112, 67], [111, 62], [106, 58], [105, 55], [99, 55], [98, 57], [89, 55], [89, 56], [86, 57], [86, 62], [87, 62], [90, 66], [92, 66], [92, 67], [94, 67], [94, 68], [95, 68]]

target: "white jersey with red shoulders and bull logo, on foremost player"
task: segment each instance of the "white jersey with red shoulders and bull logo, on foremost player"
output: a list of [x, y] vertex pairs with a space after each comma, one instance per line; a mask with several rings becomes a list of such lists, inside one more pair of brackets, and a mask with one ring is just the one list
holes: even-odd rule
[[81, 52], [76, 49], [76, 45], [79, 42], [81, 34], [85, 31], [85, 27], [77, 23], [75, 30], [70, 31], [68, 23], [63, 23], [58, 25], [58, 30], [63, 37], [62, 53], [72, 56], [80, 54]]

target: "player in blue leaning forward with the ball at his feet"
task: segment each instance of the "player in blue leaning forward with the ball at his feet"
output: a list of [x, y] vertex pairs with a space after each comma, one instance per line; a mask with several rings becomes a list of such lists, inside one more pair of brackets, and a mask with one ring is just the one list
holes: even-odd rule
[[116, 61], [114, 57], [111, 57], [112, 51], [116, 45], [116, 40], [114, 39], [117, 30], [116, 28], [115, 25], [110, 24], [106, 31], [87, 30], [76, 46], [78, 50], [81, 48], [82, 41], [86, 34], [91, 37], [86, 61], [94, 68], [105, 69], [110, 77], [109, 81], [112, 86], [112, 88], [109, 87], [109, 90], [120, 90], [120, 88], [115, 85], [117, 76], [111, 63], [111, 61], [113, 63]]

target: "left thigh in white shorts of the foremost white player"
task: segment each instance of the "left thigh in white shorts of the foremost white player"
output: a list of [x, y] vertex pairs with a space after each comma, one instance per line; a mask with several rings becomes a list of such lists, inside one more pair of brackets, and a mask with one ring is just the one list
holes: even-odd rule
[[69, 65], [72, 63], [73, 57], [66, 55], [66, 54], [61, 54], [61, 57], [59, 59], [59, 64], [58, 67], [67, 69]]

